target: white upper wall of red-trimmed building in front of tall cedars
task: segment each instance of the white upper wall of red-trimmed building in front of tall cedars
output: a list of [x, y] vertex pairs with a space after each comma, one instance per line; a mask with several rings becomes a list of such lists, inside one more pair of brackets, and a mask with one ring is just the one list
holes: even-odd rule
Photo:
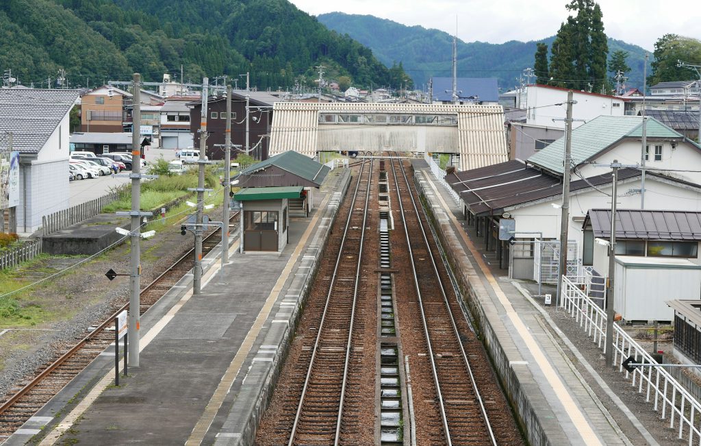
[[[613, 96], [594, 95], [574, 92], [573, 99], [577, 101], [572, 107], [573, 119], [590, 121], [597, 116], [623, 116], [624, 101]], [[526, 96], [526, 123], [534, 126], [565, 128], [567, 90], [528, 86]], [[553, 105], [561, 104], [562, 105]], [[615, 104], [618, 104], [616, 106]], [[552, 105], [552, 107], [547, 107]], [[553, 119], [561, 121], [552, 121]], [[584, 122], [574, 121], [572, 128], [578, 128]]]

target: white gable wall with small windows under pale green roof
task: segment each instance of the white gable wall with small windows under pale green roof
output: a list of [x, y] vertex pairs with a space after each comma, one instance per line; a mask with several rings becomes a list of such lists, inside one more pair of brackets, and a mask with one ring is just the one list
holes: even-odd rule
[[[655, 161], [655, 146], [662, 146], [662, 161]], [[669, 170], [699, 170], [701, 166], [701, 151], [693, 147], [688, 142], [678, 141], [676, 147], [672, 148], [672, 142], [660, 142], [648, 140], [650, 156], [645, 162], [648, 168], [660, 168]], [[618, 160], [623, 164], [639, 164], [643, 151], [640, 141], [624, 141], [604, 154], [597, 156], [597, 163], [610, 164]], [[593, 177], [606, 172], [606, 168], [594, 167], [593, 165], [582, 165], [578, 168], [585, 177]], [[693, 172], [664, 172], [667, 176], [679, 178], [680, 180], [701, 184], [701, 173]], [[671, 208], [665, 208], [671, 209]]]

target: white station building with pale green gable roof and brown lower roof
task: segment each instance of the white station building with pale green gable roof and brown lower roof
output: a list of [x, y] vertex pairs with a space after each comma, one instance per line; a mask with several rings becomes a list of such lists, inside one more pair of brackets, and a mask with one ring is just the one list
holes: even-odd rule
[[[639, 116], [599, 116], [572, 132], [569, 238], [576, 243], [579, 264], [589, 263], [588, 257], [586, 262], [583, 259], [585, 215], [590, 209], [610, 205], [612, 178], [608, 164], [613, 160], [636, 163], [641, 158], [642, 121]], [[679, 171], [701, 165], [701, 147], [654, 119], [648, 119], [647, 135], [646, 165], [657, 170], [646, 170], [645, 207], [701, 210], [701, 175]], [[525, 163], [514, 160], [446, 176], [461, 196], [465, 218], [484, 236], [486, 246], [496, 250], [502, 266], [509, 263], [512, 252], [508, 243], [496, 239], [492, 229], [505, 214], [515, 219], [515, 238], [520, 241], [533, 241], [536, 234], [543, 239], [559, 238], [564, 144], [564, 137], [560, 138]], [[620, 208], [640, 207], [639, 169], [619, 170], [617, 196]], [[517, 257], [530, 259], [532, 266], [532, 248], [514, 258], [527, 264]], [[512, 266], [515, 269], [516, 264]], [[533, 278], [533, 269], [530, 274], [528, 270], [528, 265], [523, 266], [524, 276]]]

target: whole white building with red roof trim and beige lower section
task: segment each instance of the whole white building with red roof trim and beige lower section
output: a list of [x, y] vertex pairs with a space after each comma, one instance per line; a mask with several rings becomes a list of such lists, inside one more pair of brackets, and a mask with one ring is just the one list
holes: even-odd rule
[[[569, 90], [545, 85], [526, 87], [526, 120], [512, 123], [509, 135], [510, 159], [526, 159], [564, 135]], [[597, 116], [624, 116], [625, 100], [620, 97], [573, 91], [572, 128]]]

